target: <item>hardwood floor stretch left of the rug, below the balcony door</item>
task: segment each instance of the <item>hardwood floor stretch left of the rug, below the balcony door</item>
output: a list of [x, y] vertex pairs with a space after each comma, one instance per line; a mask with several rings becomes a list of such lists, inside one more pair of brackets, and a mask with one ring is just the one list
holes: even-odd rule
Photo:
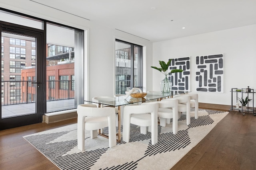
[[0, 131], [0, 170], [59, 170], [23, 136], [76, 123], [77, 119], [57, 123], [37, 123]]

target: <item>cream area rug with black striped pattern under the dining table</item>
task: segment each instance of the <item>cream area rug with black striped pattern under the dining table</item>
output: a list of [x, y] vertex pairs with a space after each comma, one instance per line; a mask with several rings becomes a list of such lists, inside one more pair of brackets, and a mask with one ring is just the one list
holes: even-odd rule
[[[172, 123], [158, 125], [158, 143], [151, 145], [151, 133], [140, 133], [131, 124], [130, 142], [108, 147], [108, 139], [90, 139], [85, 134], [85, 152], [77, 149], [77, 124], [24, 136], [31, 145], [62, 170], [169, 170], [196, 146], [228, 112], [199, 109], [198, 119], [191, 110], [191, 124], [186, 115], [178, 120], [178, 133], [172, 134]], [[122, 128], [121, 128], [122, 131]], [[108, 133], [108, 129], [104, 129]]]

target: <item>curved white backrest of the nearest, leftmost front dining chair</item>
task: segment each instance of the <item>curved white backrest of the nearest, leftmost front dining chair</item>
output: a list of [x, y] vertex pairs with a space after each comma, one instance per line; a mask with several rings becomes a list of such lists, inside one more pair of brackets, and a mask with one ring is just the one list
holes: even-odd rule
[[112, 115], [115, 118], [116, 112], [114, 107], [98, 108], [95, 104], [80, 104], [77, 106], [77, 114], [83, 117], [104, 117]]

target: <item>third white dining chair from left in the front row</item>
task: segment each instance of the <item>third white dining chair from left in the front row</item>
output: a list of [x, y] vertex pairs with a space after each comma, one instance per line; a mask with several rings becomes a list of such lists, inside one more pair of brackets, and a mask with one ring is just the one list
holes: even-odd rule
[[158, 104], [158, 118], [160, 119], [160, 126], [166, 127], [166, 122], [172, 118], [172, 133], [176, 134], [178, 132], [178, 100], [174, 98], [162, 99], [158, 102], [149, 102], [147, 104]]

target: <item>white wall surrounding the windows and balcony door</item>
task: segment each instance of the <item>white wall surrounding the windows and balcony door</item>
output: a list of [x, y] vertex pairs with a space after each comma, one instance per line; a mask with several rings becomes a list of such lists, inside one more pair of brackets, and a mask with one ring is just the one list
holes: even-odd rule
[[[144, 71], [144, 77], [146, 73], [149, 75], [152, 73], [150, 66], [146, 66], [146, 64], [152, 65], [152, 43], [150, 41], [105, 27], [104, 25], [98, 25], [93, 21], [54, 10], [32, 1], [9, 0], [0, 2], [0, 6], [23, 14], [86, 30], [88, 35], [85, 35], [85, 37], [88, 36], [88, 42], [85, 42], [85, 44], [88, 43], [88, 46], [85, 45], [85, 51], [88, 51], [88, 53], [84, 57], [85, 99], [92, 98], [93, 96], [114, 96], [115, 38], [146, 47], [146, 56], [144, 56], [144, 70], [146, 71]], [[87, 47], [88, 49], [86, 50]], [[86, 77], [89, 78], [88, 82]], [[147, 76], [144, 87], [152, 89], [152, 76]]]

